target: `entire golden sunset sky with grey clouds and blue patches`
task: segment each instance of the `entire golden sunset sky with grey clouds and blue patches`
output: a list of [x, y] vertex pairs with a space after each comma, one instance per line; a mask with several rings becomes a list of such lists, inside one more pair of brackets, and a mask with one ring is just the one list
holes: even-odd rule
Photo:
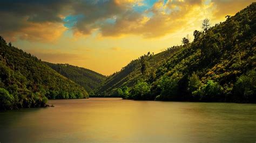
[[0, 35], [39, 59], [110, 75], [223, 22], [252, 0], [3, 0]]

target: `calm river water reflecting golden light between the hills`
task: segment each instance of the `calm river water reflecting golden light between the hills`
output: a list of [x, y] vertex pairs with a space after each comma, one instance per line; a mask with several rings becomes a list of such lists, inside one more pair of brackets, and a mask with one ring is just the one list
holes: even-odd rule
[[55, 108], [0, 112], [0, 142], [256, 142], [256, 105], [49, 101]]

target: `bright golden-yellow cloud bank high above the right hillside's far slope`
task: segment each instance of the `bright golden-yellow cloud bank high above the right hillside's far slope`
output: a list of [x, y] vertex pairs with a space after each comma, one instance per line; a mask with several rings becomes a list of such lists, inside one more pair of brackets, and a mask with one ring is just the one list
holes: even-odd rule
[[[203, 10], [202, 1], [170, 1], [164, 5], [159, 1], [147, 13], [152, 12], [152, 17], [140, 15], [140, 13], [127, 13], [118, 18], [115, 24], [101, 27], [102, 35], [117, 37], [125, 34], [142, 35], [144, 38], [158, 38], [166, 34], [190, 26], [192, 13], [199, 17], [196, 12]], [[199, 9], [198, 9], [199, 8]], [[201, 18], [201, 16], [200, 16]]]

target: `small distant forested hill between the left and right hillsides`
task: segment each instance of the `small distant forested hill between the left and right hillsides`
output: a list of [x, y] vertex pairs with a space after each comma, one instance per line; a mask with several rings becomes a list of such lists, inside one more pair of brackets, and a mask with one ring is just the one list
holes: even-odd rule
[[56, 70], [59, 74], [68, 77], [70, 80], [84, 87], [87, 92], [92, 92], [106, 78], [106, 76], [96, 73], [90, 69], [85, 69], [69, 64], [54, 64], [45, 62], [46, 65]]

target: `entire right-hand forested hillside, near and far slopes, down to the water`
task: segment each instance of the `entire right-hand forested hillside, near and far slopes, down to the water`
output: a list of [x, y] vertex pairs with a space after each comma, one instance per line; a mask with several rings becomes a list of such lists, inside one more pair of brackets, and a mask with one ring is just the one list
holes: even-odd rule
[[255, 103], [256, 3], [226, 18], [216, 25], [205, 19], [203, 30], [194, 31], [194, 40], [183, 38], [183, 45], [169, 49], [172, 54], [158, 56], [163, 52], [132, 61], [110, 76], [96, 94], [139, 100]]

